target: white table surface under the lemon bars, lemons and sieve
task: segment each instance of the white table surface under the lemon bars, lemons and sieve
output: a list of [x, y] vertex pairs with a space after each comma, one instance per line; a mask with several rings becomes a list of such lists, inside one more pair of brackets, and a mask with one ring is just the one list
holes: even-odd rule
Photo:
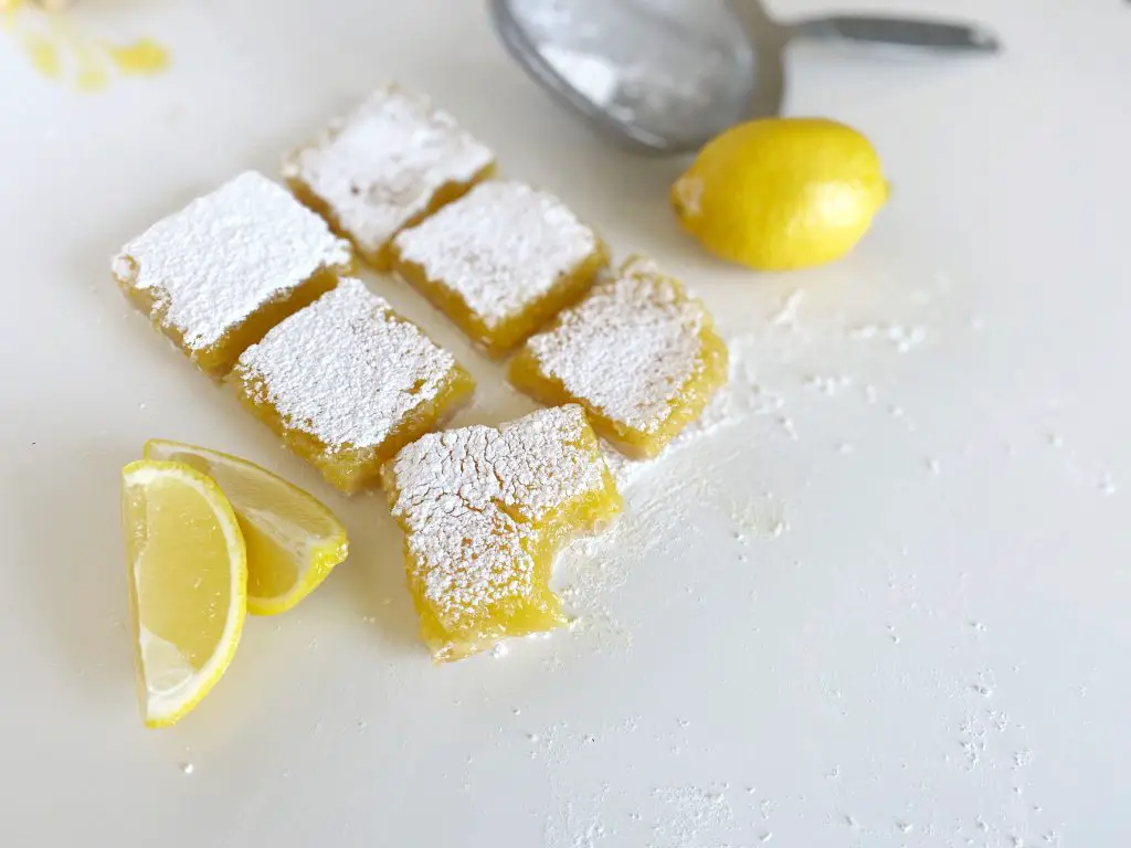
[[[1131, 8], [898, 5], [991, 24], [988, 61], [797, 49], [789, 111], [864, 130], [896, 191], [846, 261], [758, 276], [680, 235], [681, 163], [590, 137], [481, 6], [89, 0], [92, 27], [174, 55], [97, 95], [0, 34], [0, 845], [1126, 845]], [[758, 387], [640, 478], [603, 564], [566, 563], [573, 632], [443, 668], [383, 501], [329, 492], [107, 274], [389, 78], [692, 283]], [[372, 284], [485, 383], [460, 421], [532, 408]], [[135, 703], [118, 525], [119, 469], [154, 435], [309, 486], [354, 551], [250, 621], [165, 732]]]

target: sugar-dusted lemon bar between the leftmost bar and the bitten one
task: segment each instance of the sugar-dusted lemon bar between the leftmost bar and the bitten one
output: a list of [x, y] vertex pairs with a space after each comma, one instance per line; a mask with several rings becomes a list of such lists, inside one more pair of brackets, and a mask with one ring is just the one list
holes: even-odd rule
[[466, 401], [475, 386], [447, 351], [361, 283], [337, 288], [249, 347], [241, 399], [346, 494]]

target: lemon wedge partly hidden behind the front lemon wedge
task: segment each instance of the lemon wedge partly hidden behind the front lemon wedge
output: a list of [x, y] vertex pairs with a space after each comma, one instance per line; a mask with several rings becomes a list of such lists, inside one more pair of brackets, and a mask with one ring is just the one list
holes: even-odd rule
[[345, 527], [312, 495], [245, 459], [154, 439], [146, 459], [183, 462], [224, 491], [248, 546], [248, 612], [291, 609], [329, 577], [349, 551]]

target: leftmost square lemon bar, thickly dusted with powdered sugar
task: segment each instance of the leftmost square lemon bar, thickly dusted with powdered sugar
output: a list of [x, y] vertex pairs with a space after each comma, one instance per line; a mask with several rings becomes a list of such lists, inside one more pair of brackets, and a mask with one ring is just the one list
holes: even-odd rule
[[122, 291], [211, 377], [348, 270], [349, 243], [253, 171], [157, 222], [113, 260]]

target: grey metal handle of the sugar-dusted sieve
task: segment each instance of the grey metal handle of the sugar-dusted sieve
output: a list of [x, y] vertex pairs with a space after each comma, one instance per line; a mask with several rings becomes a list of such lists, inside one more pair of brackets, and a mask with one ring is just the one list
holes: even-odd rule
[[834, 15], [800, 20], [791, 29], [796, 35], [866, 44], [944, 52], [996, 53], [998, 38], [988, 29], [966, 24], [913, 20], [865, 15]]

